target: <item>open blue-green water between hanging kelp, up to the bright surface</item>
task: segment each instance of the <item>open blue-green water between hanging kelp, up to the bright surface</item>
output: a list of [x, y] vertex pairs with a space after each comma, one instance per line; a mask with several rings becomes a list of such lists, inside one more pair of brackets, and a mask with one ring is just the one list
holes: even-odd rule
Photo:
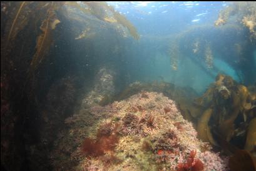
[[[227, 49], [223, 47], [238, 44], [243, 39], [243, 34], [238, 34], [235, 27], [224, 33], [214, 26], [218, 13], [228, 3], [108, 2], [136, 26], [141, 36], [131, 47], [133, 54], [128, 66], [133, 81], [172, 82], [182, 87], [192, 87], [199, 94], [207, 89], [220, 72], [242, 82], [239, 73], [230, 65], [230, 56], [233, 57], [232, 60], [239, 59], [237, 51], [227, 54]], [[177, 39], [178, 36], [183, 37]], [[196, 55], [191, 49], [197, 39], [201, 41], [202, 52]], [[178, 69], [173, 71], [168, 49], [172, 46], [172, 41], [177, 40], [181, 40], [178, 47], [183, 54], [178, 57]], [[212, 50], [213, 69], [205, 66], [205, 44], [210, 44]]]

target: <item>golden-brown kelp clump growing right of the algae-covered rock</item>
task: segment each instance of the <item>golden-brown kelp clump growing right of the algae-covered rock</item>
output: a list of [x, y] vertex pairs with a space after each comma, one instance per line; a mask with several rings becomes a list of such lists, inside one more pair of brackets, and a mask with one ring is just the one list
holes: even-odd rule
[[[241, 132], [247, 129], [247, 144], [244, 148], [252, 151], [255, 136], [252, 134], [253, 124], [249, 122], [255, 118], [253, 99], [255, 100], [253, 91], [245, 85], [239, 85], [230, 76], [218, 74], [215, 83], [194, 102], [202, 110], [206, 109], [197, 122], [200, 139], [218, 145], [217, 137], [212, 136], [213, 131], [218, 130], [222, 139], [235, 142], [235, 139], [241, 137]], [[242, 136], [243, 139], [246, 138], [245, 134]]]

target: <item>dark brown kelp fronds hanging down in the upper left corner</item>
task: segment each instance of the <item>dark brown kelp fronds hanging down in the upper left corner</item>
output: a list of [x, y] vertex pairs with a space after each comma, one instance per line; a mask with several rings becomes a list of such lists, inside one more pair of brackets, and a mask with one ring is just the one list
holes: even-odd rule
[[[37, 33], [38, 22], [41, 22], [39, 27], [41, 32], [37, 35], [36, 40], [36, 51], [33, 57], [30, 57], [32, 60], [28, 69], [29, 73], [33, 74], [38, 64], [46, 56], [53, 42], [52, 31], [60, 22], [56, 17], [55, 11], [63, 4], [64, 2], [3, 2], [3, 6], [5, 7], [3, 12], [4, 36], [3, 39], [1, 36], [1, 41], [6, 42], [3, 44], [4, 50], [6, 51], [4, 56], [8, 56], [11, 49], [15, 48], [14, 44], [20, 43], [20, 38], [24, 39], [23, 34], [19, 34], [20, 32], [25, 31], [25, 29], [31, 29], [31, 31]], [[31, 44], [29, 41], [28, 44]], [[28, 47], [24, 48], [28, 49]], [[23, 48], [21, 48], [21, 51], [23, 51]]]

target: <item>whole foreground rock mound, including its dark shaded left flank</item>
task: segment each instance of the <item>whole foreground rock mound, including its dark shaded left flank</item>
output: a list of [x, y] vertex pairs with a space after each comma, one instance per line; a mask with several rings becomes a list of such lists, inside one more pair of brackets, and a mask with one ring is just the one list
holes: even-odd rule
[[198, 140], [192, 123], [161, 93], [95, 105], [66, 124], [51, 155], [56, 170], [227, 170], [227, 159]]

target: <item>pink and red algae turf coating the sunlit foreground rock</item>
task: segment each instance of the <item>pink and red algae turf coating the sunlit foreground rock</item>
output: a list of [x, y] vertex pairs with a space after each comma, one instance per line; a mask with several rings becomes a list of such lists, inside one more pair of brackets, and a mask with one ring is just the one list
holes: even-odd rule
[[146, 95], [91, 110], [110, 118], [102, 122], [95, 139], [84, 140], [84, 170], [227, 170], [219, 154], [201, 151], [196, 130], [172, 100], [156, 92]]

